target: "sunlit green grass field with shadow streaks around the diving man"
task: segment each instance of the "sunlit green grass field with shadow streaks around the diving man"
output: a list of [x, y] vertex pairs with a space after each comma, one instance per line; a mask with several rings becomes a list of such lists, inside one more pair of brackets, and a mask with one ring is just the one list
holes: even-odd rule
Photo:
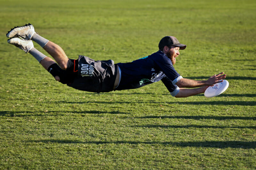
[[[255, 169], [255, 0], [0, 0], [0, 169]], [[173, 35], [195, 80], [225, 72], [218, 97], [174, 98], [162, 82], [91, 93], [56, 82], [7, 44], [32, 23], [68, 57], [130, 62]], [[46, 54], [43, 49], [35, 47]], [[47, 55], [47, 54], [46, 54]]]

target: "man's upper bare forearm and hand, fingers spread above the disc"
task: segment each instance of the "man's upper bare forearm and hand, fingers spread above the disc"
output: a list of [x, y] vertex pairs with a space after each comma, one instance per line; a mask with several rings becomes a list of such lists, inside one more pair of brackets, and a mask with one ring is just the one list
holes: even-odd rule
[[220, 73], [217, 75], [214, 75], [210, 77], [208, 80], [190, 80], [187, 78], [181, 78], [176, 85], [180, 88], [186, 87], [186, 88], [194, 88], [194, 87], [203, 87], [203, 86], [211, 86], [216, 83], [222, 82], [226, 78], [226, 74]]

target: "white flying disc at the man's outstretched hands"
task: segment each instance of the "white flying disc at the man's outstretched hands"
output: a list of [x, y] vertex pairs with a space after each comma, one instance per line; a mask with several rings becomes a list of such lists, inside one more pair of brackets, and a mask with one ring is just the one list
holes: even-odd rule
[[221, 93], [225, 92], [225, 90], [227, 90], [228, 85], [229, 85], [228, 81], [223, 80], [223, 82], [216, 83], [213, 86], [209, 86], [205, 90], [204, 96], [207, 97], [207, 98], [218, 96]]

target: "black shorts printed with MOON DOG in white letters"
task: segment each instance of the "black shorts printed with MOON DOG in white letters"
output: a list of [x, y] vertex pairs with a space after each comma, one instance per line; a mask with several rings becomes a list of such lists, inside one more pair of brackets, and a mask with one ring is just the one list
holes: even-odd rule
[[77, 67], [76, 76], [72, 83], [67, 84], [68, 86], [87, 92], [113, 91], [117, 75], [117, 65], [113, 60], [95, 61], [79, 55]]

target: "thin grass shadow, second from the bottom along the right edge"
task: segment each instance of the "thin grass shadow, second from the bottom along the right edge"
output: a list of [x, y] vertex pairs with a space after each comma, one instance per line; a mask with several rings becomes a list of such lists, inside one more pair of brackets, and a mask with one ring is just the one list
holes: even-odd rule
[[132, 128], [216, 128], [256, 129], [256, 126], [207, 126], [207, 125], [134, 125]]

